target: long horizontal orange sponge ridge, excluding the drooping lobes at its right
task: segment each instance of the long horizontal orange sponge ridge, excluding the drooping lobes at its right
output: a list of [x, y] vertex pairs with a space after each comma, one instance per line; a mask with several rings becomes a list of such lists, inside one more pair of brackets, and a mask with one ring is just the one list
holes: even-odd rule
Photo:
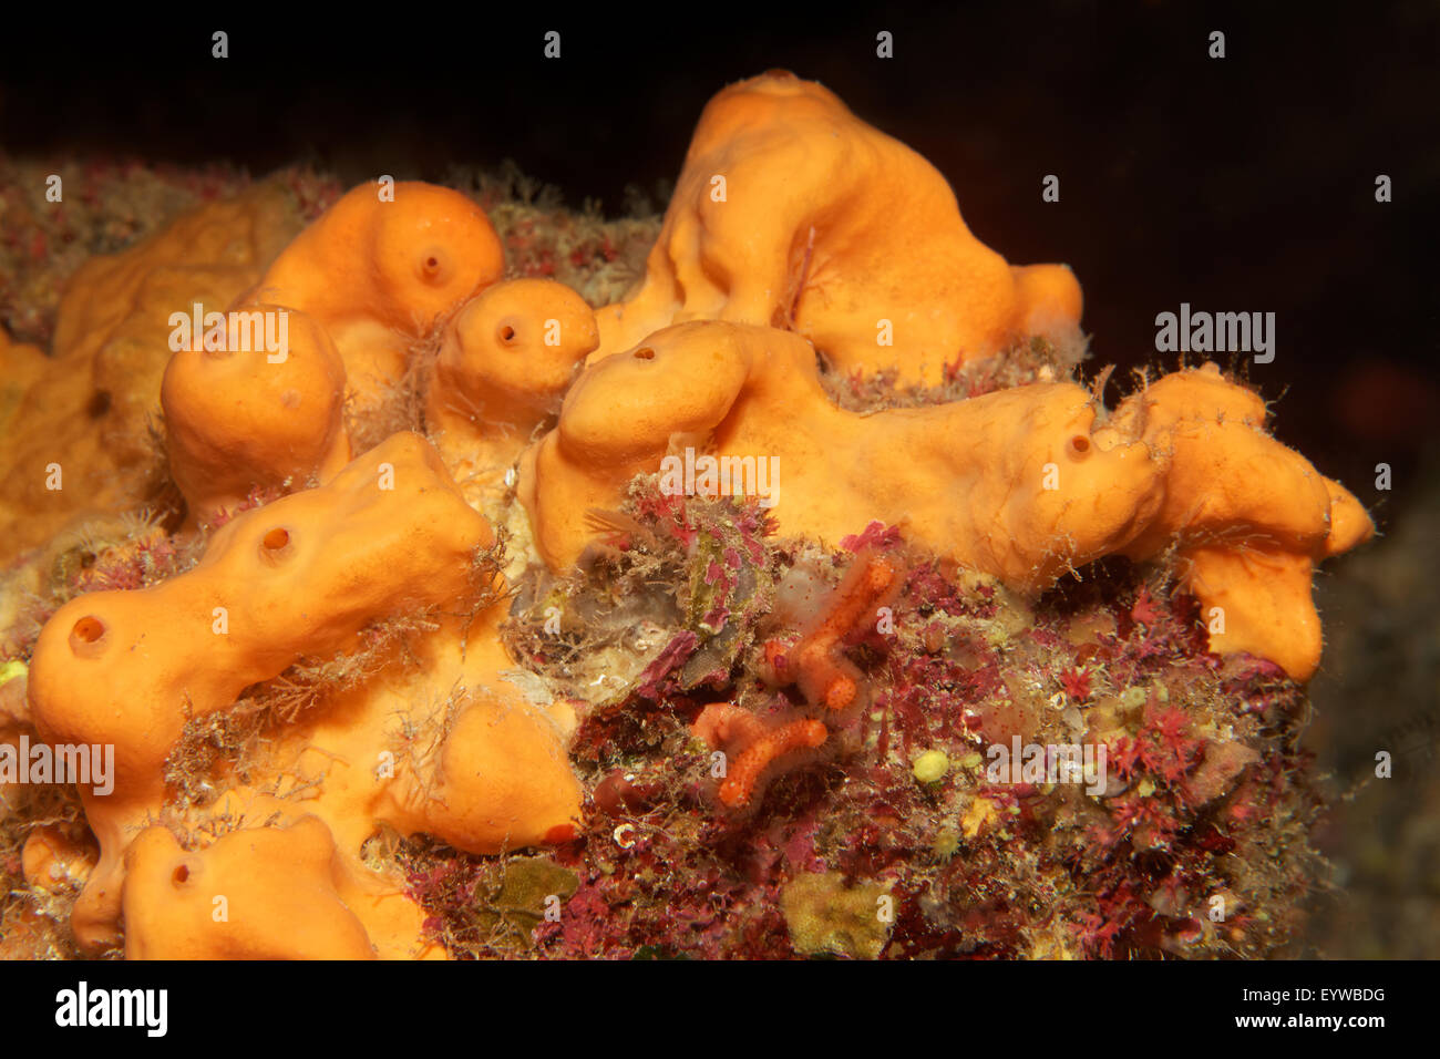
[[520, 499], [559, 569], [590, 539], [576, 513], [613, 509], [667, 454], [711, 451], [734, 493], [766, 470], [782, 533], [837, 546], [871, 519], [904, 523], [939, 555], [1040, 589], [1123, 548], [1162, 499], [1143, 444], [1092, 441], [1096, 411], [1080, 386], [1047, 383], [858, 415], [831, 403], [799, 336], [678, 324], [580, 375], [526, 452]]

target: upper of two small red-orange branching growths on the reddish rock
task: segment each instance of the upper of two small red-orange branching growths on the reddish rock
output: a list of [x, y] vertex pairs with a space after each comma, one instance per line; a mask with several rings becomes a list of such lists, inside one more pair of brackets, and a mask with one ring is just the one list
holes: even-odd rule
[[880, 607], [899, 588], [900, 569], [891, 559], [861, 553], [799, 641], [788, 648], [773, 641], [766, 644], [776, 683], [793, 682], [806, 702], [827, 710], [850, 709], [860, 693], [861, 676], [840, 653], [841, 644], [860, 628], [874, 627]]

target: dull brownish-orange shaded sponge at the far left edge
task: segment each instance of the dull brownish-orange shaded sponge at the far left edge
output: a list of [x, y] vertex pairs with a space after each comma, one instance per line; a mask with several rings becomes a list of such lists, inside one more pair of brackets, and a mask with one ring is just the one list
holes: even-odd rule
[[[6, 419], [0, 530], [16, 548], [43, 543], [71, 519], [143, 500], [151, 419], [170, 359], [170, 314], [226, 308], [300, 231], [294, 197], [261, 184], [181, 215], [121, 254], [91, 258], [60, 301], [52, 356]], [[9, 385], [13, 385], [9, 383]], [[60, 488], [48, 468], [60, 465]]]

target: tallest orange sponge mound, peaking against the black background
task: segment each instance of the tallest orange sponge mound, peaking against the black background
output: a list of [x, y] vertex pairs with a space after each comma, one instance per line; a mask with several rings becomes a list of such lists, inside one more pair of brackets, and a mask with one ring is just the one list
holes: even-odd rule
[[724, 320], [793, 330], [845, 372], [936, 385], [1020, 337], [1077, 337], [1080, 285], [1063, 265], [1008, 265], [930, 163], [821, 85], [772, 72], [706, 107], [644, 284], [598, 318], [596, 356]]

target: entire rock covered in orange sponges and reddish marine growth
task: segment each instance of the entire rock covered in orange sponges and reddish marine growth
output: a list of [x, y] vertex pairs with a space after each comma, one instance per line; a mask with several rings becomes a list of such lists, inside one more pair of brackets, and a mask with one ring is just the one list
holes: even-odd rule
[[638, 226], [297, 187], [92, 258], [48, 350], [0, 331], [7, 948], [1293, 935], [1312, 578], [1374, 526], [1266, 395], [1174, 363], [1107, 405], [1070, 269], [786, 72]]

